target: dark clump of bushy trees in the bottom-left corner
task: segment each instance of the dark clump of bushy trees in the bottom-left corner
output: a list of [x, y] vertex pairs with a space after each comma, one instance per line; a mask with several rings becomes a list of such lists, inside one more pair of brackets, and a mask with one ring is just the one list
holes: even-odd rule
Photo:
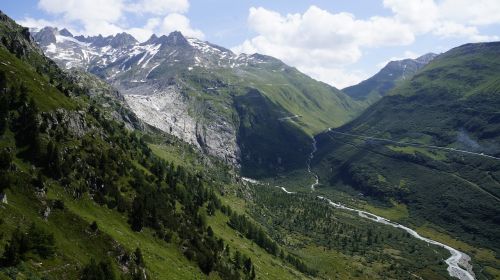
[[26, 260], [29, 254], [47, 259], [52, 257], [54, 252], [54, 236], [33, 223], [27, 232], [23, 232], [19, 227], [12, 232], [9, 242], [5, 245], [0, 265], [16, 266]]

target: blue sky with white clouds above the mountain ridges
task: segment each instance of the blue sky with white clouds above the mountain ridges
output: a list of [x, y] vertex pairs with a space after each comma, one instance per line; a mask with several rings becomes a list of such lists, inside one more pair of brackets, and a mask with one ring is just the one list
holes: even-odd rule
[[500, 37], [498, 0], [18, 0], [23, 25], [139, 40], [180, 30], [236, 52], [275, 56], [338, 88], [394, 59]]

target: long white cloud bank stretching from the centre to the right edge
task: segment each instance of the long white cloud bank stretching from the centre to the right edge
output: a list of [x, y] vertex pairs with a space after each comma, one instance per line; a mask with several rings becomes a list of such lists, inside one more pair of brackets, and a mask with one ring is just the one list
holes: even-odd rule
[[382, 3], [392, 14], [367, 19], [345, 12], [331, 13], [316, 6], [310, 6], [303, 14], [286, 15], [252, 7], [248, 25], [256, 35], [233, 50], [275, 56], [313, 78], [343, 87], [363, 78], [364, 74], [352, 73], [347, 68], [361, 59], [365, 49], [409, 46], [418, 36], [426, 34], [472, 42], [499, 39], [481, 34], [478, 28], [500, 23], [498, 0], [382, 0]]

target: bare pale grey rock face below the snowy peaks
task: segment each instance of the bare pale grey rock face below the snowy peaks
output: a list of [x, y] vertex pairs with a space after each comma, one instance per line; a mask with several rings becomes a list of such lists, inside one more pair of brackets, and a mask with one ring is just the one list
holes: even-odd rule
[[238, 165], [239, 149], [232, 121], [210, 106], [183, 95], [178, 86], [141, 84], [122, 88], [121, 93], [135, 114], [147, 124]]

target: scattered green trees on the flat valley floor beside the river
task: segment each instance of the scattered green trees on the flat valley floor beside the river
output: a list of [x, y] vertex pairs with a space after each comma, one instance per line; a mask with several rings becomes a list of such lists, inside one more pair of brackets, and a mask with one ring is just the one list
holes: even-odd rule
[[[387, 267], [397, 264], [388, 274], [390, 277], [426, 266], [439, 266], [439, 259], [445, 256], [438, 248], [423, 246], [422, 241], [405, 231], [378, 226], [356, 216], [345, 216], [346, 213], [339, 214], [327, 203], [307, 194], [290, 196], [278, 190], [255, 191], [254, 198], [252, 217], [269, 225], [267, 229], [276, 240], [293, 238], [286, 234], [297, 232], [311, 241], [303, 246], [314, 245]], [[387, 248], [397, 250], [405, 259], [387, 254]], [[300, 271], [310, 269], [293, 255], [285, 256], [285, 259], [289, 263], [297, 262], [294, 266]]]

